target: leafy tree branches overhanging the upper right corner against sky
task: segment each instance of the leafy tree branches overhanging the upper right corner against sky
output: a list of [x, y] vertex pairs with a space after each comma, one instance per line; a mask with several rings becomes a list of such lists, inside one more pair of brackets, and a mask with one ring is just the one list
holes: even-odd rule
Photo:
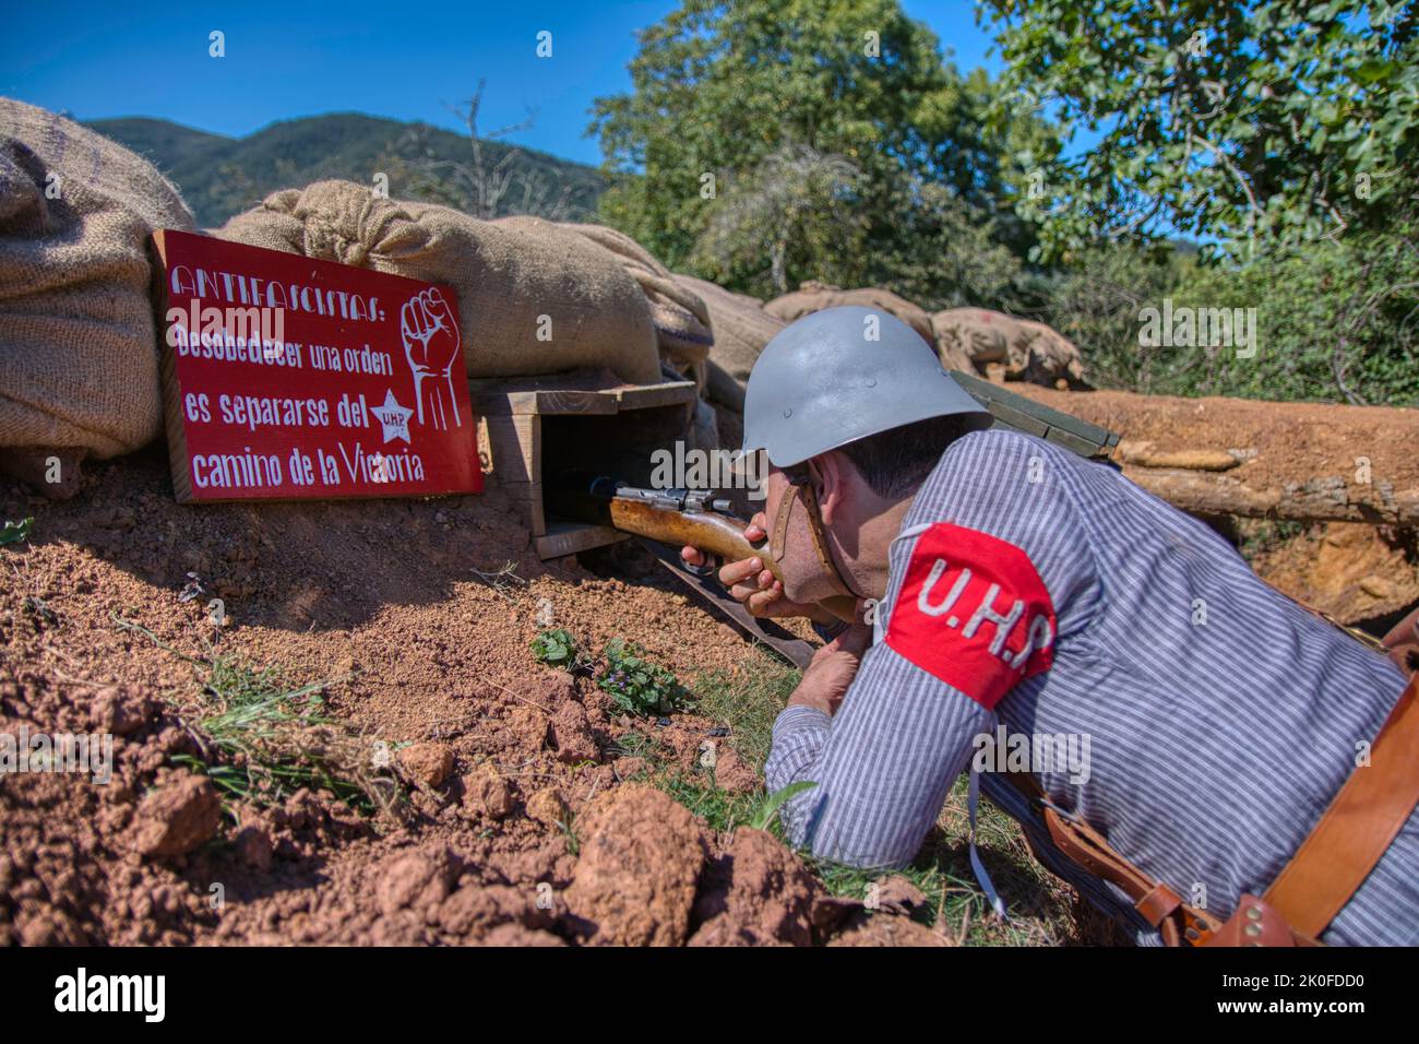
[[1171, 226], [1259, 260], [1376, 227], [1419, 175], [1416, 16], [1413, 0], [982, 0], [1009, 65], [995, 116], [1050, 99], [1066, 134], [1103, 134], [1029, 158], [1020, 212], [1054, 257]]

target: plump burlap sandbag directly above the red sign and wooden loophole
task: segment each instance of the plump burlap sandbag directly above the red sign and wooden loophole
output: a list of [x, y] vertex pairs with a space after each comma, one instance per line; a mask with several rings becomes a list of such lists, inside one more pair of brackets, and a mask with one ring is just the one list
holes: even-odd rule
[[651, 308], [636, 280], [604, 247], [538, 217], [481, 222], [329, 180], [275, 192], [214, 234], [453, 286], [468, 376], [607, 366], [631, 384], [660, 379]]

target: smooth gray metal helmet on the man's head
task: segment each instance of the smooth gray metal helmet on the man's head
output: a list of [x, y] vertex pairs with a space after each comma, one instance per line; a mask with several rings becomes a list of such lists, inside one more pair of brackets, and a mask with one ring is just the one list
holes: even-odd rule
[[[876, 337], [873, 334], [876, 332]], [[955, 382], [921, 335], [880, 308], [826, 308], [789, 324], [753, 364], [744, 396], [744, 453], [800, 464], [917, 420], [990, 413]]]

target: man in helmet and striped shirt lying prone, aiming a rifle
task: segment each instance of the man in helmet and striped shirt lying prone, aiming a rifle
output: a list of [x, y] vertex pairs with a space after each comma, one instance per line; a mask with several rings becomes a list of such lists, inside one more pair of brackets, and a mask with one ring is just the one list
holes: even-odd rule
[[[783, 807], [789, 838], [853, 865], [908, 862], [1005, 726], [1032, 739], [1043, 794], [982, 771], [972, 797], [979, 778], [1051, 869], [1156, 942], [1172, 923], [1159, 896], [1218, 922], [1236, 912], [1232, 925], [1266, 910], [1270, 925], [1276, 912], [1243, 896], [1267, 891], [1354, 773], [1402, 808], [1389, 825], [1361, 815], [1355, 827], [1352, 808], [1338, 821], [1375, 852], [1311, 930], [1419, 943], [1415, 773], [1402, 764], [1419, 753], [1416, 732], [1401, 736], [1403, 757], [1375, 743], [1412, 703], [1399, 699], [1403, 673], [1117, 470], [989, 420], [920, 337], [876, 310], [805, 317], [752, 371], [745, 450], [762, 449], [771, 470], [746, 535], [769, 537], [783, 582], [763, 557], [721, 580], [759, 615], [817, 624], [827, 618], [810, 607], [850, 594], [873, 625], [840, 629], [775, 723], [769, 790], [816, 784]], [[1357, 768], [1371, 744], [1374, 767]], [[1392, 785], [1396, 773], [1408, 778]], [[1084, 872], [1051, 844], [1046, 808], [1161, 886], [1135, 905]], [[1314, 844], [1334, 848], [1331, 834]]]

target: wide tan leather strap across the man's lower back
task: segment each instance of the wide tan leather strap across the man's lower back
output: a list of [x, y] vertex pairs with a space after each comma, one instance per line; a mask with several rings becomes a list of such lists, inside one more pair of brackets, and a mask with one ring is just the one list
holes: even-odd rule
[[1359, 766], [1263, 899], [1318, 937], [1364, 883], [1419, 804], [1419, 676], [1399, 696]]

